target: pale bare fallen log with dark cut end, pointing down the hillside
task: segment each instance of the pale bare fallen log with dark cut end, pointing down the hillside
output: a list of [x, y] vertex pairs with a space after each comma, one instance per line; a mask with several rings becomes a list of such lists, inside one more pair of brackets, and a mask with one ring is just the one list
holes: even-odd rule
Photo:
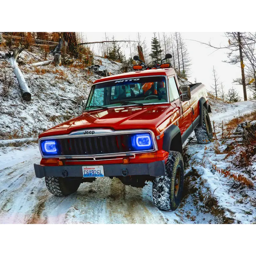
[[30, 101], [31, 99], [31, 93], [29, 90], [29, 86], [27, 85], [27, 82], [22, 74], [22, 72], [19, 69], [18, 63], [17, 63], [17, 58], [19, 57], [19, 54], [23, 51], [23, 49], [19, 46], [18, 48], [16, 48], [13, 53], [12, 56], [10, 57], [9, 61], [11, 63], [11, 65], [14, 68], [14, 74], [16, 75], [16, 78], [18, 80], [18, 84], [19, 84], [19, 88], [20, 88], [20, 93], [22, 98], [25, 101]]

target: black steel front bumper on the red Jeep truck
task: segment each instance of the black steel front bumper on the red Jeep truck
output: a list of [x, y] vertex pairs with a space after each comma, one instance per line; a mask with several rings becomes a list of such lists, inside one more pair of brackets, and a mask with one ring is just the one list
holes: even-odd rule
[[[97, 163], [95, 163], [97, 165]], [[99, 164], [100, 165], [100, 164]], [[152, 163], [129, 163], [103, 165], [104, 174], [108, 177], [150, 175], [154, 177], [165, 175], [165, 161]], [[42, 166], [34, 163], [35, 176], [43, 177], [83, 177], [82, 165]]]

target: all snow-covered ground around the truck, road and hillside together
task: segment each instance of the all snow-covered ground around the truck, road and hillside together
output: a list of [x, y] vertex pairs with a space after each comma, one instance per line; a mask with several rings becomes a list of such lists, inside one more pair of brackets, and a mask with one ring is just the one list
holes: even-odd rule
[[[39, 53], [22, 54], [20, 59], [24, 62], [42, 61]], [[0, 50], [0, 78], [6, 76], [11, 82], [6, 95], [0, 95], [0, 139], [12, 138], [16, 131], [16, 138], [30, 137], [60, 123], [61, 118], [75, 116], [75, 97], [84, 95], [86, 99], [91, 83], [98, 78], [65, 67], [36, 69], [24, 65], [21, 68], [32, 93], [32, 101], [24, 102], [11, 66], [3, 58], [5, 52]], [[104, 65], [112, 74], [120, 69], [120, 64], [97, 56], [95, 64]], [[8, 84], [0, 79], [0, 92], [3, 87], [8, 88]], [[210, 117], [216, 123], [217, 132], [222, 120], [255, 109], [251, 101], [229, 104], [210, 98], [210, 104], [213, 111]], [[246, 173], [245, 169], [233, 166], [236, 155], [216, 154], [214, 147], [214, 142], [197, 144], [194, 133], [191, 135], [185, 147], [184, 199], [176, 211], [170, 212], [154, 206], [151, 182], [144, 188], [133, 188], [117, 178], [104, 177], [81, 184], [68, 197], [53, 196], [46, 189], [44, 179], [34, 174], [33, 164], [41, 160], [37, 144], [0, 147], [0, 224], [255, 223], [255, 189], [214, 169], [216, 166], [219, 170], [241, 173], [256, 185], [255, 161]], [[226, 145], [218, 147], [222, 152]]]

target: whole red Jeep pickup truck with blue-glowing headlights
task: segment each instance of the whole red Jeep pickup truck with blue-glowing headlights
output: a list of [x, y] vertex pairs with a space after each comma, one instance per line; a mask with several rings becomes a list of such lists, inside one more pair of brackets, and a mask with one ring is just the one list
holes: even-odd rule
[[152, 181], [155, 206], [178, 207], [182, 144], [193, 131], [198, 143], [212, 139], [207, 91], [202, 83], [180, 86], [168, 63], [143, 64], [96, 80], [85, 108], [77, 99], [80, 116], [39, 135], [42, 160], [34, 164], [35, 175], [45, 177], [51, 193], [68, 196], [82, 182], [117, 177], [133, 187]]

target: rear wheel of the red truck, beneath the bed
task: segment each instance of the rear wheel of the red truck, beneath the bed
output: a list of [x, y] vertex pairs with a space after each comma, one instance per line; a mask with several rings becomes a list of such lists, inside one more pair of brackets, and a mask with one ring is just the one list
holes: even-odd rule
[[205, 106], [203, 106], [203, 125], [195, 128], [195, 134], [200, 144], [210, 143], [210, 140], [213, 138], [211, 120]]

